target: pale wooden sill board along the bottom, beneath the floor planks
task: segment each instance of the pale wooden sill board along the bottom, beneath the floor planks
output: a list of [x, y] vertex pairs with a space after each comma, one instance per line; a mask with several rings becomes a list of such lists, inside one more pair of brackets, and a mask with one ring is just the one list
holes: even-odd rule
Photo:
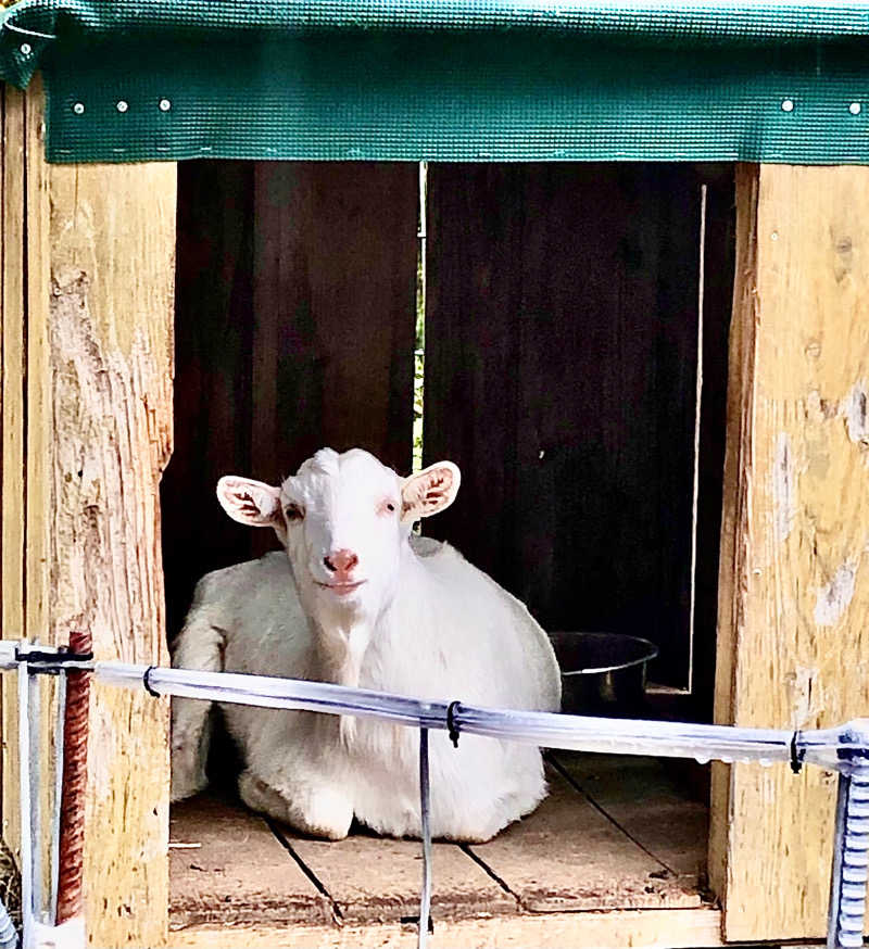
[[[494, 916], [436, 925], [432, 949], [706, 949], [723, 946], [721, 913], [698, 910], [620, 910]], [[173, 945], [196, 949], [413, 949], [416, 932], [395, 923], [343, 928], [205, 927], [173, 934]]]

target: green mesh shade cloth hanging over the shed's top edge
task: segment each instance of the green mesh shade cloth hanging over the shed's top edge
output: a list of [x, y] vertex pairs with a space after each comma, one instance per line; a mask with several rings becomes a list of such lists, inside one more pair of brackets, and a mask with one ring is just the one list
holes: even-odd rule
[[869, 4], [23, 0], [51, 161], [869, 162]]

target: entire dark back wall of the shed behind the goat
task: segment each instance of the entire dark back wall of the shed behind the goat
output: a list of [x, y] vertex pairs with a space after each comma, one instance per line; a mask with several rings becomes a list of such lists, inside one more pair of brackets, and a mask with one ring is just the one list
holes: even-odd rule
[[424, 231], [419, 180], [405, 163], [179, 165], [171, 631], [203, 572], [275, 545], [223, 514], [219, 476], [275, 481], [327, 444], [410, 472], [425, 273], [424, 463], [463, 471], [426, 532], [545, 629], [652, 640], [650, 679], [680, 689], [693, 572], [679, 716], [708, 719], [732, 166], [432, 164]]

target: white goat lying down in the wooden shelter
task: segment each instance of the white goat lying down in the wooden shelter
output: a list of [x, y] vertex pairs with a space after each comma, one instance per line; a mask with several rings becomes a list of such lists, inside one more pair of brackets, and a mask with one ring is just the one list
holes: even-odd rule
[[[401, 479], [367, 452], [317, 452], [279, 488], [222, 478], [235, 520], [273, 528], [287, 555], [216, 570], [197, 586], [174, 650], [188, 669], [336, 682], [399, 695], [557, 710], [549, 638], [528, 610], [413, 522], [448, 507], [459, 472], [443, 461]], [[415, 729], [225, 705], [245, 761], [249, 807], [307, 833], [419, 836]], [[207, 703], [173, 703], [173, 799], [205, 784]], [[430, 736], [436, 837], [488, 840], [545, 795], [538, 748]]]

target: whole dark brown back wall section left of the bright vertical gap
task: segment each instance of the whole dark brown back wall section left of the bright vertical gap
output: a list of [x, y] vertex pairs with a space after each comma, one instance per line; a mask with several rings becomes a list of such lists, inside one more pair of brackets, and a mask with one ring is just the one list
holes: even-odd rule
[[326, 445], [410, 471], [417, 202], [413, 164], [182, 167], [173, 632], [203, 573], [276, 546], [223, 514], [222, 474], [276, 481]]

